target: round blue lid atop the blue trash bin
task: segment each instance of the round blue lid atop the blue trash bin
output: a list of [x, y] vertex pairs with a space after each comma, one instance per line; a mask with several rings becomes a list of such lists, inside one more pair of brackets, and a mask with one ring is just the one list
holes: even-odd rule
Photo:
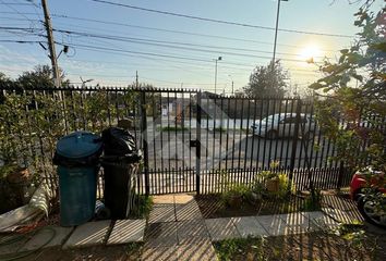
[[61, 138], [57, 153], [65, 158], [85, 158], [100, 151], [100, 137], [88, 132], [75, 132]]

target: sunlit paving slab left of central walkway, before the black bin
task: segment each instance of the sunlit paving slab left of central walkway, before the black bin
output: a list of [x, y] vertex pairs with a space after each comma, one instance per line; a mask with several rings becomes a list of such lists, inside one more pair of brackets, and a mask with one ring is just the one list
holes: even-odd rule
[[146, 220], [118, 220], [111, 231], [107, 245], [143, 241]]

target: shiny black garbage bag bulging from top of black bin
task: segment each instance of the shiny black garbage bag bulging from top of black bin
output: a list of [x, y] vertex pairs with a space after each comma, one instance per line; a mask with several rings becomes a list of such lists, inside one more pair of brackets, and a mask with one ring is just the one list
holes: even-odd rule
[[137, 162], [142, 159], [142, 153], [135, 145], [135, 137], [124, 128], [109, 127], [101, 133], [101, 139], [105, 160], [125, 159]]

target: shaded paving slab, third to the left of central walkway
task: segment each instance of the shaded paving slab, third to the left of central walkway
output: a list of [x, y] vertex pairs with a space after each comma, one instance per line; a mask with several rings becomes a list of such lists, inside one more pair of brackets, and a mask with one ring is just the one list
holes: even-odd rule
[[24, 245], [21, 251], [36, 250], [40, 247], [48, 248], [61, 246], [73, 229], [73, 227], [62, 226], [48, 226], [41, 228]]

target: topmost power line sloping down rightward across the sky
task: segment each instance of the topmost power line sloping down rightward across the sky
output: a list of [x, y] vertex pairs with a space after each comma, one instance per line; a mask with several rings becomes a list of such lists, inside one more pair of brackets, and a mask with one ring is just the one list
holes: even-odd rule
[[[257, 29], [275, 30], [274, 27], [269, 27], [269, 26], [251, 25], [251, 24], [244, 24], [244, 23], [238, 23], [238, 22], [231, 22], [231, 21], [224, 21], [224, 20], [215, 20], [215, 18], [202, 17], [202, 16], [194, 16], [194, 15], [174, 13], [174, 12], [169, 12], [169, 11], [160, 11], [160, 10], [155, 10], [155, 9], [141, 8], [141, 7], [135, 7], [135, 5], [125, 4], [125, 3], [117, 3], [117, 2], [110, 2], [110, 1], [105, 1], [105, 0], [89, 0], [89, 1], [98, 2], [98, 3], [105, 3], [105, 4], [109, 4], [109, 5], [121, 7], [121, 8], [129, 8], [129, 9], [150, 12], [150, 13], [159, 13], [159, 14], [184, 17], [184, 18], [191, 18], [191, 20], [213, 22], [213, 23], [218, 23], [218, 24], [227, 24], [227, 25], [236, 25], [236, 26], [243, 26], [243, 27], [257, 28]], [[304, 34], [304, 35], [318, 35], [318, 36], [352, 38], [352, 36], [341, 35], [341, 34], [327, 34], [327, 33], [306, 32], [306, 30], [298, 30], [298, 29], [282, 29], [282, 28], [281, 29], [279, 28], [278, 30], [286, 32], [286, 33]]]

